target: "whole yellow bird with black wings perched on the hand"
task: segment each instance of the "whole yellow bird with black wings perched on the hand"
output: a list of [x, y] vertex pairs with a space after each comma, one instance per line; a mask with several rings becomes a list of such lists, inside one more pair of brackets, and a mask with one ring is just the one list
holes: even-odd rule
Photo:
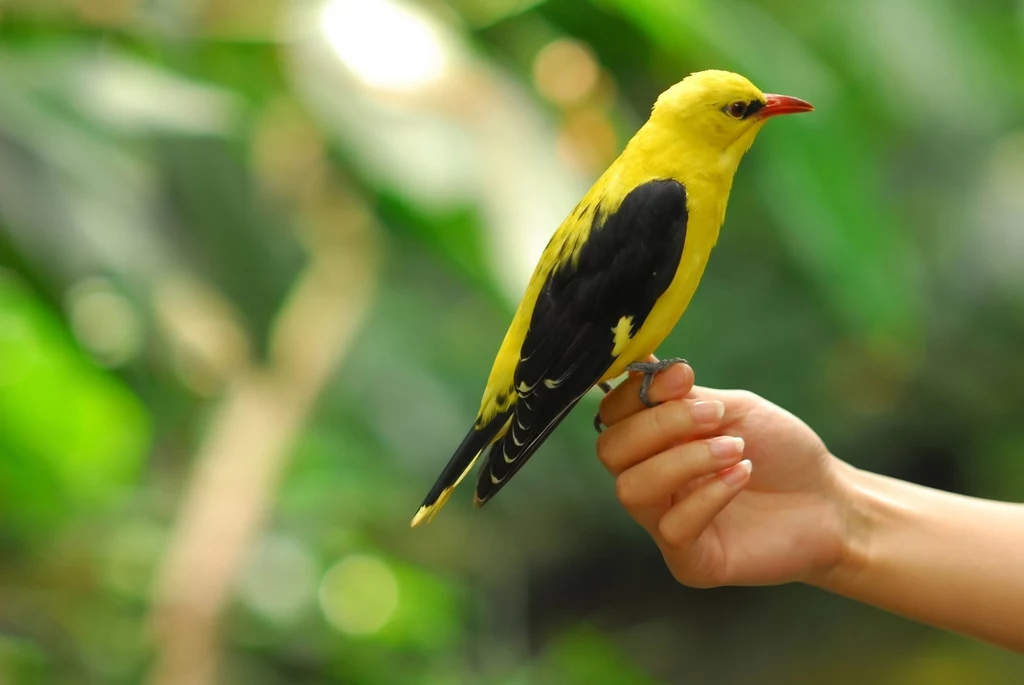
[[[476, 422], [412, 525], [431, 520], [492, 445], [474, 503], [522, 468], [595, 385], [645, 363], [690, 302], [725, 219], [739, 160], [769, 118], [810, 112], [738, 74], [691, 74], [658, 96], [548, 243], [487, 379]], [[598, 426], [600, 429], [600, 427]]]

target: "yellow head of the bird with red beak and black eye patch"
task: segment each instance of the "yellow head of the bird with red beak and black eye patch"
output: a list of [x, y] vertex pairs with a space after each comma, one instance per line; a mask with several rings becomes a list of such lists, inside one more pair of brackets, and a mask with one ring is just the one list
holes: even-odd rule
[[649, 124], [688, 146], [720, 155], [724, 167], [734, 172], [768, 119], [813, 109], [797, 97], [763, 93], [738, 74], [710, 70], [662, 93]]

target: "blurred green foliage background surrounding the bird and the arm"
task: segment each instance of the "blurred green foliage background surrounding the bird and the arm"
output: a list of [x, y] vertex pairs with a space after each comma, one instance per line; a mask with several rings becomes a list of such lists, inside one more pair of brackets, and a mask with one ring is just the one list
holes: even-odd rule
[[416, 511], [551, 231], [686, 74], [812, 101], [662, 348], [1024, 499], [1024, 4], [0, 0], [0, 683], [930, 685], [1024, 661], [691, 591], [588, 398]]

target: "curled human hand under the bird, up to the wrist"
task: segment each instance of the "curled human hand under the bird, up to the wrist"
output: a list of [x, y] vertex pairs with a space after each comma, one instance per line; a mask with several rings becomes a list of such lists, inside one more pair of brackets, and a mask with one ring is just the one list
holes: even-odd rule
[[686, 365], [655, 377], [653, 409], [640, 380], [602, 400], [597, 454], [680, 583], [814, 583], [843, 561], [852, 468], [807, 424], [754, 393], [694, 386]]

